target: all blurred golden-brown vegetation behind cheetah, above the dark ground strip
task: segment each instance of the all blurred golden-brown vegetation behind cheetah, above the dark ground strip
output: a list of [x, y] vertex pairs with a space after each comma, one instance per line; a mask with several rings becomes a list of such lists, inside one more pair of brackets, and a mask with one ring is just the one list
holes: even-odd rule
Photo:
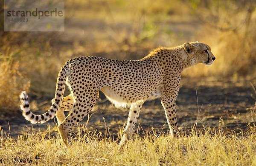
[[54, 96], [58, 70], [75, 56], [140, 59], [158, 46], [208, 44], [216, 60], [186, 77], [256, 79], [255, 0], [65, 0], [64, 32], [4, 32], [0, 4], [0, 109], [19, 93]]

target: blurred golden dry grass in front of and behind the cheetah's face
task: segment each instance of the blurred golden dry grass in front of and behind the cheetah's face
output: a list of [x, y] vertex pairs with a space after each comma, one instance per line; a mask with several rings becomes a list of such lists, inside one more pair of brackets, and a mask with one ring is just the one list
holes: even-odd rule
[[195, 39], [207, 43], [216, 56], [210, 68], [200, 65], [186, 76], [245, 76], [256, 79], [256, 2], [191, 0], [191, 11], [204, 28]]

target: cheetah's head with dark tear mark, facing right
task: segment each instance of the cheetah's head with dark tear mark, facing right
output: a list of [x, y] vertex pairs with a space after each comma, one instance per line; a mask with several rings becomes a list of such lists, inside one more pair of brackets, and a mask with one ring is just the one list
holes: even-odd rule
[[200, 42], [186, 42], [183, 44], [183, 48], [188, 55], [190, 65], [196, 65], [198, 63], [204, 63], [209, 66], [212, 65], [215, 60], [215, 56], [211, 52], [211, 48]]

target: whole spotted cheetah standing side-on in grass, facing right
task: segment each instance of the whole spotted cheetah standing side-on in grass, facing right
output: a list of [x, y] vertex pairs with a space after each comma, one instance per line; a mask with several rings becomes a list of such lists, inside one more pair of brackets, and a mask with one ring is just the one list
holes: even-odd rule
[[[200, 42], [186, 42], [172, 48], [160, 47], [139, 60], [113, 60], [97, 56], [76, 57], [67, 61], [58, 73], [52, 106], [42, 115], [29, 108], [25, 91], [20, 108], [32, 124], [44, 123], [56, 116], [62, 141], [70, 143], [71, 129], [93, 108], [102, 91], [116, 107], [129, 107], [129, 115], [119, 145], [134, 134], [143, 103], [161, 98], [170, 135], [177, 135], [176, 98], [181, 72], [198, 63], [211, 65], [215, 56]], [[64, 97], [65, 84], [70, 95]], [[65, 117], [64, 110], [70, 110]]]

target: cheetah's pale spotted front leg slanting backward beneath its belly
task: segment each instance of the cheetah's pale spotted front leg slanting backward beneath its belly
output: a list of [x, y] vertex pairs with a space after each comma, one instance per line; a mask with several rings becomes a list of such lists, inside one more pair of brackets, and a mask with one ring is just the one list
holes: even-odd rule
[[127, 125], [125, 127], [124, 134], [122, 136], [122, 140], [119, 143], [119, 146], [122, 146], [123, 144], [125, 144], [125, 142], [128, 141], [134, 134], [134, 128], [137, 123], [138, 117], [140, 115], [142, 104], [143, 103], [131, 104]]

